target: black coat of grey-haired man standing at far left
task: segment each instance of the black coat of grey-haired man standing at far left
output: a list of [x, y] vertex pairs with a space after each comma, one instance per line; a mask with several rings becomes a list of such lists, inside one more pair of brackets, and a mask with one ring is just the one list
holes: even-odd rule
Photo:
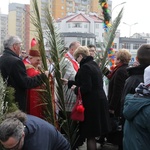
[[19, 109], [26, 111], [27, 89], [41, 85], [44, 74], [28, 77], [22, 60], [10, 49], [5, 49], [0, 57], [0, 72], [8, 86], [15, 89], [15, 101]]

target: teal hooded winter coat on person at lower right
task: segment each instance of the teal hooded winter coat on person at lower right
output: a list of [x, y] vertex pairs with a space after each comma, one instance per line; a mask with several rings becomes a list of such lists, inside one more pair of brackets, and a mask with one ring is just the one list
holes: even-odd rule
[[128, 94], [125, 99], [124, 150], [150, 149], [150, 96]]

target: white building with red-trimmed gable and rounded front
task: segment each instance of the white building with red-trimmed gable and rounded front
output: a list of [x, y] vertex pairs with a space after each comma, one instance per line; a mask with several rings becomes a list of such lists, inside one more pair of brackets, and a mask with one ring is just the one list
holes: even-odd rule
[[56, 22], [66, 47], [72, 41], [82, 45], [102, 42], [103, 21], [96, 14], [72, 14]]

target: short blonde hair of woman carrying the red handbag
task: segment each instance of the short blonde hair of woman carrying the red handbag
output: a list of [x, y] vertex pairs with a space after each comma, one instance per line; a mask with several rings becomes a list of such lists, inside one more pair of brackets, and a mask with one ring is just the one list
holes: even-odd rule
[[89, 48], [87, 46], [79, 46], [73, 54], [74, 58], [77, 59], [79, 54], [84, 54], [85, 56], [89, 56], [90, 55]]

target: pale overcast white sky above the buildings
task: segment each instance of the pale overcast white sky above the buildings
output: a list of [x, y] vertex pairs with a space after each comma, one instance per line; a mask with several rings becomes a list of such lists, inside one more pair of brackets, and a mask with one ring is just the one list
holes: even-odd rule
[[[8, 3], [26, 3], [29, 4], [30, 0], [0, 0], [1, 13], [8, 13]], [[123, 5], [122, 2], [126, 2]], [[118, 6], [117, 6], [118, 5]], [[117, 7], [115, 7], [117, 6]], [[121, 36], [129, 36], [134, 33], [150, 33], [150, 0], [112, 0], [112, 17], [117, 16], [121, 8], [124, 7], [123, 18], [118, 29], [121, 31]], [[126, 24], [123, 24], [125, 22]], [[132, 25], [138, 23], [136, 25]]]

